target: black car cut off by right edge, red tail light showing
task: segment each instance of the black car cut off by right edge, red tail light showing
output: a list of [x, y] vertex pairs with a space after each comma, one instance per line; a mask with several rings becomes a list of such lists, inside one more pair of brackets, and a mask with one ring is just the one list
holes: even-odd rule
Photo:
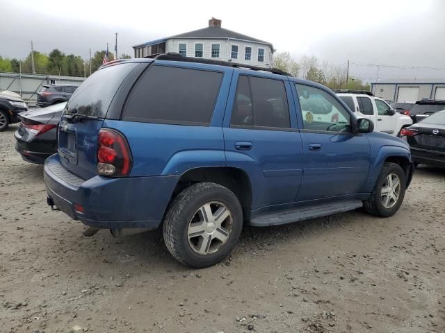
[[415, 164], [445, 168], [445, 111], [403, 128], [401, 136], [410, 144]]

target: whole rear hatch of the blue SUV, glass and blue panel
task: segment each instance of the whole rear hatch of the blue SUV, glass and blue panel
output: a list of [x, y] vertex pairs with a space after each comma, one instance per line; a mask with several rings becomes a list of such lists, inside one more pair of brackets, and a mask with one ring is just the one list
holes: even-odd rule
[[58, 154], [65, 169], [85, 180], [97, 175], [97, 138], [122, 81], [136, 68], [122, 62], [96, 71], [76, 89], [60, 119]]

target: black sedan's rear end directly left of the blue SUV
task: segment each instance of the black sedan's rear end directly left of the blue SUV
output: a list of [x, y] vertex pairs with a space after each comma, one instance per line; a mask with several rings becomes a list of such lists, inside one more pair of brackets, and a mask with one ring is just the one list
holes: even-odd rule
[[43, 164], [47, 157], [57, 153], [56, 137], [60, 115], [67, 102], [39, 108], [19, 115], [22, 119], [15, 131], [15, 150], [23, 160]]

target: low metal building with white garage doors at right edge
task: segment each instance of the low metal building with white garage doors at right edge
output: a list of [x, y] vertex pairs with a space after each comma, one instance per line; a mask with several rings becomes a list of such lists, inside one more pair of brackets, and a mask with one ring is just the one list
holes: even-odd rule
[[382, 79], [371, 83], [371, 92], [382, 99], [395, 102], [445, 100], [445, 78]]

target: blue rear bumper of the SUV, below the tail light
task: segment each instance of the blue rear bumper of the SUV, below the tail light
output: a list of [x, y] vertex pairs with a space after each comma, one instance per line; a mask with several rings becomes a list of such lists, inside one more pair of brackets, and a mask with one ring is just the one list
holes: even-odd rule
[[[83, 180], [64, 169], [58, 155], [49, 157], [44, 165], [50, 201], [72, 219], [104, 229], [157, 228], [177, 180], [176, 176]], [[83, 212], [74, 210], [75, 204]]]

